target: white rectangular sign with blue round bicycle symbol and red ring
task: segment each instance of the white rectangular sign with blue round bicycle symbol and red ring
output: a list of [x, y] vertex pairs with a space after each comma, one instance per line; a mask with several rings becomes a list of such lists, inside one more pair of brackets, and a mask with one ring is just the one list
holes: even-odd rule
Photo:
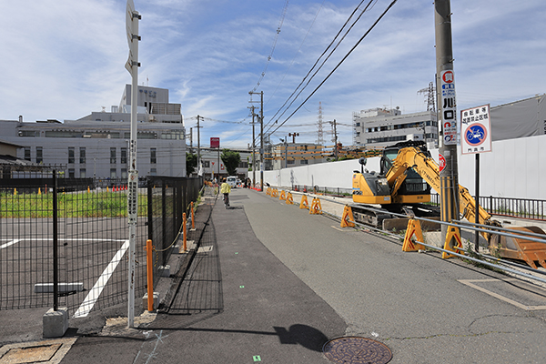
[[460, 112], [460, 147], [462, 154], [491, 151], [490, 106], [468, 108]]

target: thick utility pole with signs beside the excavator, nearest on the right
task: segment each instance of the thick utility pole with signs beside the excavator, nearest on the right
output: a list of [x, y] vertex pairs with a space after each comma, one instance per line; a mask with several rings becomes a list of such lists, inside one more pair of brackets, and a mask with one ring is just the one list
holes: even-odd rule
[[[441, 220], [451, 222], [452, 219], [459, 219], [459, 172], [457, 163], [457, 102], [451, 44], [450, 0], [435, 0], [434, 23], [436, 29], [438, 121], [441, 126], [439, 137]], [[447, 227], [442, 225], [441, 231], [442, 238], [445, 241]]]

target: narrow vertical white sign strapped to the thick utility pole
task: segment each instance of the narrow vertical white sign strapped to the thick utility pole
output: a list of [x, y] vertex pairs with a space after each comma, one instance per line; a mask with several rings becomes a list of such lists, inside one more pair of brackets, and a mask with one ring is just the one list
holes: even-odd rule
[[441, 122], [443, 144], [457, 145], [457, 101], [455, 99], [455, 76], [452, 70], [440, 72]]

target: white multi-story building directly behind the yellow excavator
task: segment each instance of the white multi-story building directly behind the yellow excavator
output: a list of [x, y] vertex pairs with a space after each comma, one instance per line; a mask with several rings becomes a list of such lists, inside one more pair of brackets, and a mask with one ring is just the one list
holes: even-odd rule
[[385, 147], [404, 140], [423, 140], [438, 147], [435, 111], [402, 115], [399, 108], [372, 108], [353, 114], [356, 146]]

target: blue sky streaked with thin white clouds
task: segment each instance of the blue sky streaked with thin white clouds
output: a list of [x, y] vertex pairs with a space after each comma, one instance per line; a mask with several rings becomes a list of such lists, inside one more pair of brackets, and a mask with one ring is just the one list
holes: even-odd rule
[[[142, 16], [138, 84], [169, 90], [187, 133], [193, 127], [194, 145], [197, 115], [204, 117], [201, 146], [210, 137], [220, 137], [221, 147], [251, 145], [249, 107], [259, 107], [259, 95], [249, 92], [263, 91], [264, 130], [273, 144], [288, 133], [298, 133], [296, 142], [317, 141], [319, 109], [326, 144], [333, 144], [335, 119], [346, 146], [359, 110], [427, 109], [419, 91], [436, 73], [432, 0], [391, 7], [392, 0], [134, 4]], [[119, 105], [131, 83], [126, 0], [0, 0], [0, 8], [0, 119], [76, 120]], [[458, 110], [546, 92], [542, 0], [454, 0], [451, 12]], [[348, 20], [356, 23], [306, 78]]]

